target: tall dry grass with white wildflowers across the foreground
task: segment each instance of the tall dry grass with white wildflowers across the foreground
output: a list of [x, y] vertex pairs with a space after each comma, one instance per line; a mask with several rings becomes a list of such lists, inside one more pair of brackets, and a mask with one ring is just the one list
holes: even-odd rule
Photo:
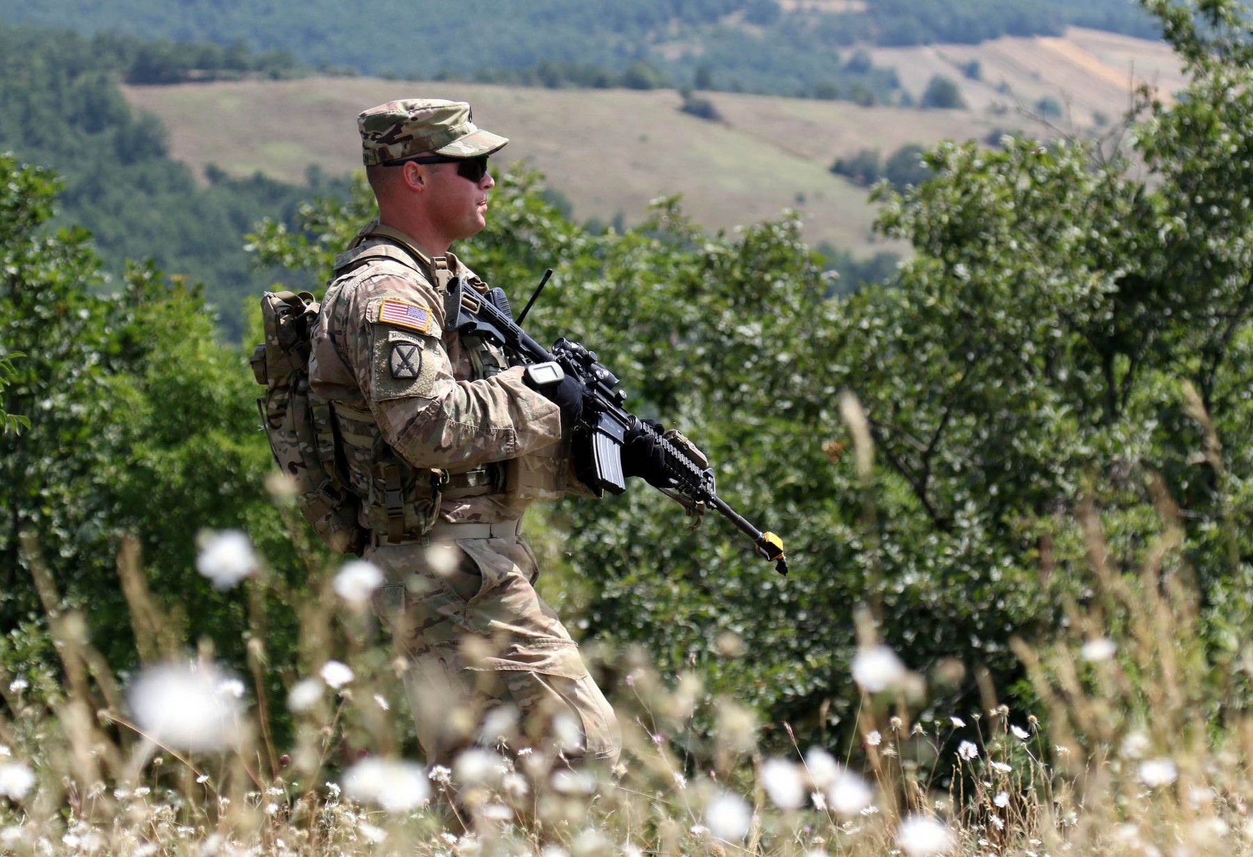
[[[868, 474], [856, 403], [845, 410]], [[611, 768], [571, 767], [559, 745], [519, 751], [507, 713], [492, 727], [500, 737], [451, 769], [406, 761], [397, 665], [363, 609], [368, 570], [315, 566], [321, 595], [297, 601], [238, 540], [207, 543], [202, 561], [249, 576], [248, 674], [228, 674], [207, 643], [172, 636], [128, 541], [119, 581], [148, 667], [119, 683], [26, 540], [60, 672], [0, 675], [0, 853], [1253, 853], [1253, 720], [1227, 707], [1215, 675], [1229, 673], [1213, 669], [1198, 633], [1183, 529], [1160, 491], [1158, 509], [1135, 574], [1110, 555], [1098, 511], [1080, 510], [1093, 598], [1065, 605], [1064, 636], [1014, 641], [1039, 712], [1002, 705], [979, 677], [976, 710], [913, 719], [926, 684], [862, 610], [855, 747], [793, 742], [769, 756], [752, 710], [709, 699], [694, 673], [660, 675], [626, 652], [615, 655], [625, 678], [613, 694], [625, 749]], [[299, 615], [299, 663], [282, 699], [262, 680], [272, 596]], [[737, 653], [734, 638], [720, 643]], [[269, 723], [283, 705], [294, 730], [279, 743]]]

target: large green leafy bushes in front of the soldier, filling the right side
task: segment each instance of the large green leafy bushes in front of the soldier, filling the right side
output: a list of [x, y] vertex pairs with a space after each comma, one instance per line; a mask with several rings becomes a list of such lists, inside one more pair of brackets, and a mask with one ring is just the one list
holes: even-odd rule
[[[1088, 596], [1075, 512], [1095, 504], [1113, 555], [1134, 565], [1169, 496], [1192, 563], [1174, 573], [1195, 574], [1214, 662], [1239, 663], [1253, 543], [1232, 521], [1253, 509], [1253, 474], [1205, 426], [1223, 449], [1253, 442], [1253, 73], [1180, 50], [1194, 80], [1150, 106], [1134, 157], [1026, 139], [898, 153], [926, 174], [877, 190], [881, 229], [913, 257], [841, 299], [793, 219], [710, 237], [663, 200], [640, 228], [593, 236], [544, 203], [536, 177], [507, 177], [464, 256], [515, 302], [559, 261], [528, 326], [594, 347], [630, 405], [688, 431], [724, 496], [793, 558], [779, 580], [723, 521], [688, 531], [642, 486], [568, 501], [550, 524], [594, 581], [586, 631], [829, 734], [857, 704], [852, 605], [871, 605], [906, 663], [956, 658], [1011, 687], [1009, 640]], [[323, 236], [356, 227], [337, 205], [312, 237], [267, 227], [264, 261], [325, 267]], [[363, 219], [363, 194], [352, 208]], [[876, 444], [868, 482], [843, 390]], [[725, 657], [723, 631], [749, 657]], [[969, 677], [954, 697], [975, 692]]]

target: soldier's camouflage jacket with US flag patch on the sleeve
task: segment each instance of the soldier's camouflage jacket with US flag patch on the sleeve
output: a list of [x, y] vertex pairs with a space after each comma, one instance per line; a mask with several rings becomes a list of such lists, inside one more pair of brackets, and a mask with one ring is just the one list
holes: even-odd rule
[[496, 522], [560, 496], [569, 456], [556, 405], [502, 352], [445, 330], [440, 284], [486, 286], [455, 256], [429, 259], [397, 239], [371, 224], [336, 259], [312, 335], [309, 390], [333, 411], [362, 525], [415, 538], [436, 512]]

